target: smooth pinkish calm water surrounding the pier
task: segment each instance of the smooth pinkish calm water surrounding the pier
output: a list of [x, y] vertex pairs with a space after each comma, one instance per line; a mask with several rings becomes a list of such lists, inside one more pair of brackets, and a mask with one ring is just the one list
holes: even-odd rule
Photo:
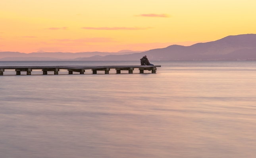
[[156, 74], [33, 70], [31, 76], [16, 76], [6, 70], [0, 76], [0, 157], [255, 157], [255, 61], [152, 63], [162, 65]]

